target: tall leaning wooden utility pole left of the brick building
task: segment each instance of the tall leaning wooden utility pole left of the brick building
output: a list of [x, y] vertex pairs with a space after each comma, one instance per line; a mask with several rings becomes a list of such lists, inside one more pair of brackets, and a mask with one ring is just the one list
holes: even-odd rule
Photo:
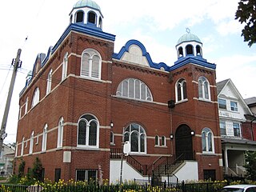
[[18, 49], [17, 56], [16, 56], [15, 60], [13, 59], [13, 62], [12, 62], [12, 65], [14, 65], [14, 70], [13, 70], [13, 74], [11, 76], [9, 92], [8, 92], [8, 96], [7, 96], [7, 100], [6, 100], [6, 108], [5, 108], [5, 112], [3, 114], [2, 126], [1, 126], [1, 130], [0, 130], [0, 157], [2, 157], [2, 143], [3, 143], [3, 140], [7, 136], [6, 122], [7, 122], [7, 118], [8, 118], [8, 114], [9, 114], [9, 110], [10, 110], [10, 100], [11, 100], [11, 96], [12, 96], [13, 90], [14, 90], [14, 82], [15, 82], [15, 78], [17, 75], [17, 70], [22, 65], [22, 62], [20, 62], [20, 60], [19, 60], [19, 58], [21, 57], [21, 53], [22, 53], [22, 50]]

